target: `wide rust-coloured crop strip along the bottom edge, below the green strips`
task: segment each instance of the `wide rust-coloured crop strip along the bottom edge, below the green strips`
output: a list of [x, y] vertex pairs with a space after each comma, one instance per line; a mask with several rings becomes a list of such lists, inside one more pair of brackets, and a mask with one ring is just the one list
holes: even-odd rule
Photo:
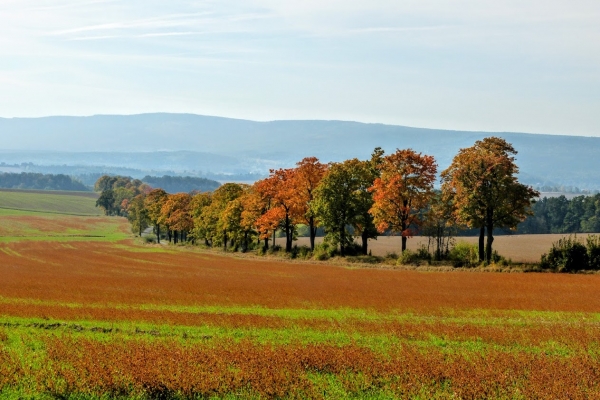
[[56, 397], [145, 395], [310, 397], [363, 396], [471, 398], [600, 398], [600, 364], [594, 356], [546, 354], [444, 354], [408, 346], [386, 354], [357, 345], [285, 346], [249, 341], [183, 345], [46, 337], [39, 366], [15, 362], [0, 351], [0, 383], [25, 377]]

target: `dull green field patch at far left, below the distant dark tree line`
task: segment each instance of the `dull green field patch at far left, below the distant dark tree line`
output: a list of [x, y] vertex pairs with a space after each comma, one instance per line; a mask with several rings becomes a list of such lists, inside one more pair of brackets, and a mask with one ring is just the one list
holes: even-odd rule
[[0, 191], [0, 215], [14, 211], [59, 213], [69, 215], [102, 215], [92, 197], [48, 192]]

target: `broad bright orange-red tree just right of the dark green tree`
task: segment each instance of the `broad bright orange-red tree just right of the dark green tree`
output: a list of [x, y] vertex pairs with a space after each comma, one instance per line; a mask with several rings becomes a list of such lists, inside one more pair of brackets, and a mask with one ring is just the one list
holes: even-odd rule
[[380, 233], [391, 230], [402, 234], [402, 252], [407, 238], [413, 236], [421, 221], [418, 213], [433, 196], [437, 164], [432, 156], [412, 149], [397, 150], [383, 157], [375, 179], [371, 214]]

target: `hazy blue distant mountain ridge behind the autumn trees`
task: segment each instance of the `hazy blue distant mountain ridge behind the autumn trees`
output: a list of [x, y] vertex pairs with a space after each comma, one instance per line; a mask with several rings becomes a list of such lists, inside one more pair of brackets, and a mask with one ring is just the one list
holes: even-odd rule
[[[267, 173], [306, 156], [366, 158], [373, 148], [413, 148], [440, 169], [486, 136], [518, 150], [522, 178], [600, 188], [600, 138], [466, 132], [347, 121], [256, 122], [194, 114], [0, 118], [0, 162], [121, 166], [143, 170]], [[85, 154], [84, 154], [85, 153]]]

